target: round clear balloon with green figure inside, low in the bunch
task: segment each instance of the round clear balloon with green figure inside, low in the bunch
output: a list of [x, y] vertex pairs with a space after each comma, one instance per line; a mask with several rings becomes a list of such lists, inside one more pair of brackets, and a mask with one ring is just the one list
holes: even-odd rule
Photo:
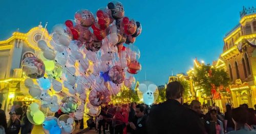
[[75, 112], [77, 109], [77, 101], [73, 96], [65, 96], [61, 99], [60, 102], [60, 110], [65, 113], [69, 114]]

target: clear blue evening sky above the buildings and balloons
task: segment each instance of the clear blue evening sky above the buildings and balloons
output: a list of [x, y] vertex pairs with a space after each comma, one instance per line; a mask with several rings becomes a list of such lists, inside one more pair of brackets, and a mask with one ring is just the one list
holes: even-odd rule
[[[79, 9], [95, 13], [109, 1], [2, 1], [0, 5], [0, 40], [5, 40], [19, 28], [31, 28], [48, 22], [53, 25], [74, 19]], [[243, 6], [256, 6], [255, 0], [180, 0], [180, 1], [120, 1], [125, 16], [142, 24], [142, 34], [136, 39], [141, 52], [139, 81], [146, 79], [157, 85], [168, 81], [168, 76], [186, 72], [193, 60], [212, 63], [220, 56], [223, 37], [240, 20]]]

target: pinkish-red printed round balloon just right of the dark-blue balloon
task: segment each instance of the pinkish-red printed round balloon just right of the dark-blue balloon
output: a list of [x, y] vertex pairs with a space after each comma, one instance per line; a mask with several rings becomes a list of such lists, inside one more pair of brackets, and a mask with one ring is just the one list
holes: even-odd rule
[[120, 66], [113, 66], [109, 71], [109, 76], [115, 84], [120, 84], [124, 81], [124, 71]]

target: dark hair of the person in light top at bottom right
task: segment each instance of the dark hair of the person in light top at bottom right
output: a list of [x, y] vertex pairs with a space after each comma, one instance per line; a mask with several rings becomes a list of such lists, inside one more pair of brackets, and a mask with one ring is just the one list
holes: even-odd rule
[[245, 124], [247, 122], [247, 111], [243, 107], [238, 107], [236, 109], [232, 109], [232, 118], [234, 121], [240, 124]]

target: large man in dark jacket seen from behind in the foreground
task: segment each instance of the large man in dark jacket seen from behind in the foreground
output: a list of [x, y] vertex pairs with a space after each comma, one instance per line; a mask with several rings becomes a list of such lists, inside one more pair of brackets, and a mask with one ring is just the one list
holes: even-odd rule
[[167, 85], [167, 100], [154, 106], [148, 116], [148, 133], [206, 133], [196, 113], [182, 105], [183, 92], [179, 82]]

